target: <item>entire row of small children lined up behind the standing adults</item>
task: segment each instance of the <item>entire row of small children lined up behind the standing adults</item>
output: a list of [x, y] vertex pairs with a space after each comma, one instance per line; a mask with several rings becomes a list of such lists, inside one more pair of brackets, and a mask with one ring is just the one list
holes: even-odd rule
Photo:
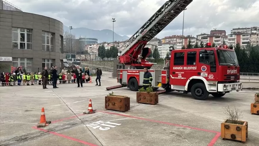
[[[73, 73], [65, 73], [65, 74], [59, 74], [59, 83], [77, 83], [76, 81], [76, 74]], [[27, 74], [15, 74], [15, 73], [1, 73], [0, 74], [0, 81], [1, 81], [1, 86], [15, 86], [16, 82], [18, 82], [18, 86], [21, 85], [41, 85], [43, 76], [41, 73], [27, 73]], [[85, 76], [85, 74], [82, 74], [82, 79], [83, 83], [88, 83], [89, 82], [89, 77], [88, 75]], [[47, 84], [52, 84], [52, 76], [49, 73], [48, 76], [48, 83]]]

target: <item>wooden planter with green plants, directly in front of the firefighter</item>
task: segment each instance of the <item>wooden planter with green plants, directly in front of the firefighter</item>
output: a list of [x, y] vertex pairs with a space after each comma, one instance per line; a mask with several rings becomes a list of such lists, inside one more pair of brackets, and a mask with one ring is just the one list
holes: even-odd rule
[[158, 93], [152, 87], [140, 88], [137, 92], [137, 102], [155, 105], [158, 103]]

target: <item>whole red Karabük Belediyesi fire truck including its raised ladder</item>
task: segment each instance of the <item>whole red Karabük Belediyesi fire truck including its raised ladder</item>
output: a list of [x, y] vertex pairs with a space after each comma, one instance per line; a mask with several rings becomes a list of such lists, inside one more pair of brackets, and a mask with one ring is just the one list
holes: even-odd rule
[[[170, 0], [166, 3], [122, 46], [118, 53], [120, 63], [130, 65], [129, 69], [118, 69], [118, 86], [107, 90], [128, 87], [138, 91], [143, 82], [143, 68], [148, 68], [153, 76], [152, 87], [164, 88], [159, 94], [170, 91], [191, 92], [197, 100], [205, 100], [209, 94], [222, 97], [230, 91], [242, 89], [238, 60], [233, 48], [228, 46], [174, 50], [170, 46], [171, 57], [165, 58], [163, 70], [151, 70], [153, 63], [146, 60], [150, 49], [148, 41], [169, 24], [192, 0]], [[141, 57], [140, 57], [141, 56]]]

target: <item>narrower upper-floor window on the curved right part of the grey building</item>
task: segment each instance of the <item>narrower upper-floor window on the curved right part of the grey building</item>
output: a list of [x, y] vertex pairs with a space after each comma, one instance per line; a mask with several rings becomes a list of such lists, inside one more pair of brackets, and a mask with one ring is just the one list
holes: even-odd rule
[[54, 33], [42, 31], [42, 51], [53, 51]]

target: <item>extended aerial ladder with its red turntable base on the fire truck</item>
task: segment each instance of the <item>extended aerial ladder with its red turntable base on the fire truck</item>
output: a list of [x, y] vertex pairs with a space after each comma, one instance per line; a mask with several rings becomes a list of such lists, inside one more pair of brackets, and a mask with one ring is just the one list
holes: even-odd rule
[[[150, 68], [153, 63], [146, 61], [150, 54], [144, 48], [171, 21], [174, 20], [193, 0], [168, 0], [138, 31], [132, 35], [118, 50], [120, 63], [135, 66], [136, 69]], [[141, 55], [141, 62], [138, 62]]]

